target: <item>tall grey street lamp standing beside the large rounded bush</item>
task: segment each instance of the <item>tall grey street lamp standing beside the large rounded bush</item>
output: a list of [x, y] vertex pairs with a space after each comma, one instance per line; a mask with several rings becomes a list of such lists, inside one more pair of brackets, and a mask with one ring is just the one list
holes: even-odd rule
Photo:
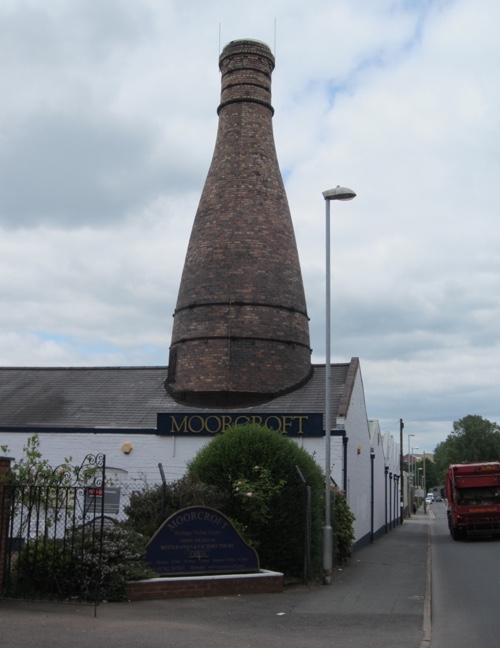
[[331, 330], [330, 330], [330, 202], [332, 200], [352, 200], [356, 194], [352, 189], [337, 186], [335, 189], [323, 191], [326, 203], [326, 344], [325, 344], [325, 528], [323, 529], [323, 582], [328, 585], [332, 581], [333, 534], [330, 512], [330, 478], [331, 478], [331, 412], [330, 397], [332, 388], [331, 367]]

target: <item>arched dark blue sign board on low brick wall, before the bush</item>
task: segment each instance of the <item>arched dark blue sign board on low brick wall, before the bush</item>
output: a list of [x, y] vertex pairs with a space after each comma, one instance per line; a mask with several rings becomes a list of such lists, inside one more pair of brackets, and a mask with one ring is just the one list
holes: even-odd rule
[[225, 515], [203, 506], [191, 506], [170, 516], [148, 542], [146, 561], [161, 576], [259, 571], [255, 549]]

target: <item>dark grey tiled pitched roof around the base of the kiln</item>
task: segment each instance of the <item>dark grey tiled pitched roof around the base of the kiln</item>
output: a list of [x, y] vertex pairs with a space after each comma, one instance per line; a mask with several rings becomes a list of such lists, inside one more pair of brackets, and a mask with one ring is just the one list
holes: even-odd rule
[[[332, 417], [345, 416], [357, 358], [332, 365]], [[0, 430], [8, 428], [156, 428], [159, 412], [203, 412], [167, 394], [167, 367], [0, 368]], [[232, 412], [323, 412], [325, 366], [293, 392]], [[341, 411], [339, 411], [339, 409]]]

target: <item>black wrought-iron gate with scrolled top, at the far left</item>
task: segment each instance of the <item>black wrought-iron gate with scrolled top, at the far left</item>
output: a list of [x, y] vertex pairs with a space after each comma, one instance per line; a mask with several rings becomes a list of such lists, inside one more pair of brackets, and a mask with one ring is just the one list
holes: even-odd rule
[[105, 477], [97, 454], [7, 482], [4, 597], [98, 605]]

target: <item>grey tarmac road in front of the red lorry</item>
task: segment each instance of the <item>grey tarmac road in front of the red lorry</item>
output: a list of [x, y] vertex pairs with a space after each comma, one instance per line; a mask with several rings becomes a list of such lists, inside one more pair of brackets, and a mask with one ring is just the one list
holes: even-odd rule
[[432, 638], [430, 648], [500, 643], [500, 541], [454, 542], [446, 505], [430, 507], [432, 533]]

